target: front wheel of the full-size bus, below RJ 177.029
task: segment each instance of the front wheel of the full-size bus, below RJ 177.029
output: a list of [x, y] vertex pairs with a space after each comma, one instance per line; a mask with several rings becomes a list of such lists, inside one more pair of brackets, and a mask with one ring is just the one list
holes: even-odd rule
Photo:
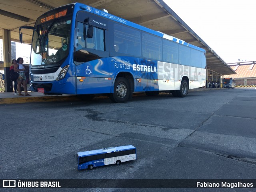
[[124, 77], [116, 78], [114, 93], [110, 94], [110, 99], [115, 103], [126, 102], [130, 96], [130, 84]]

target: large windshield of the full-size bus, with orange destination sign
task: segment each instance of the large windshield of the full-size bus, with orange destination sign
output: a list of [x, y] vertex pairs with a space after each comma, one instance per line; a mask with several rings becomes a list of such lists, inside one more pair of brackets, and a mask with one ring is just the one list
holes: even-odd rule
[[69, 6], [42, 15], [34, 26], [31, 65], [60, 63], [69, 54], [72, 8]]

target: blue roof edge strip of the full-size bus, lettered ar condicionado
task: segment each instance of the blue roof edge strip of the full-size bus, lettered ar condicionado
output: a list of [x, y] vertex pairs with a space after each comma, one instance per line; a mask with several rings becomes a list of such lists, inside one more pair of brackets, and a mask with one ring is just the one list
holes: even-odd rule
[[142, 30], [142, 31], [145, 31], [145, 32], [148, 32], [148, 33], [151, 33], [151, 34], [154, 34], [156, 36], [159, 36], [159, 37], [162, 37], [162, 38], [165, 38], [165, 39], [168, 39], [168, 40], [171, 40], [171, 41], [174, 41], [174, 42], [177, 42], [179, 44], [182, 44], [184, 46], [188, 46], [190, 48], [194, 48], [196, 50], [200, 50], [202, 52], [206, 52], [204, 49], [200, 48], [200, 47], [197, 47], [197, 46], [194, 46], [192, 44], [189, 44], [189, 43], [186, 43], [185, 41], [183, 40], [180, 40], [178, 38], [175, 38], [173, 36], [170, 36], [170, 35], [167, 35], [167, 34], [164, 34], [162, 32], [159, 32], [159, 31], [155, 31], [155, 30], [152, 30], [152, 29], [149, 29], [149, 28], [146, 28], [144, 26], [141, 26], [139, 24], [136, 24], [136, 23], [133, 23], [133, 22], [130, 22], [128, 20], [125, 20], [123, 18], [120, 18], [118, 16], [114, 16], [108, 12], [104, 12], [102, 10], [98, 10], [96, 8], [93, 8], [93, 7], [90, 7], [88, 5], [84, 5], [84, 4], [80, 4], [80, 3], [76, 3], [78, 4], [77, 6], [79, 6], [81, 9], [87, 11], [87, 12], [90, 12], [90, 13], [94, 13], [98, 16], [101, 16], [101, 17], [104, 17], [104, 18], [107, 18], [107, 19], [110, 19], [110, 20], [113, 20], [113, 21], [116, 21], [116, 22], [119, 22], [119, 23], [122, 23], [122, 24], [125, 24], [127, 26], [131, 26], [133, 28], [136, 28], [136, 29], [139, 29], [139, 30]]

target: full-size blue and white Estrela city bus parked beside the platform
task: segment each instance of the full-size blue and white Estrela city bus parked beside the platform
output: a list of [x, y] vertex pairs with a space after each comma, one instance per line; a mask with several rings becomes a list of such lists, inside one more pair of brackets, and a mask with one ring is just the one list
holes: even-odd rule
[[35, 92], [107, 94], [113, 102], [126, 102], [133, 92], [185, 97], [189, 89], [206, 85], [204, 49], [105, 10], [68, 4], [22, 28], [33, 29], [30, 86]]

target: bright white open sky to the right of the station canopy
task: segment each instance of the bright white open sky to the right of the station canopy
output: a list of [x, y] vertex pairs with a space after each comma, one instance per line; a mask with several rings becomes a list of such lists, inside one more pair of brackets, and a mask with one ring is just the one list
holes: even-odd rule
[[163, 1], [224, 62], [256, 61], [256, 1]]

